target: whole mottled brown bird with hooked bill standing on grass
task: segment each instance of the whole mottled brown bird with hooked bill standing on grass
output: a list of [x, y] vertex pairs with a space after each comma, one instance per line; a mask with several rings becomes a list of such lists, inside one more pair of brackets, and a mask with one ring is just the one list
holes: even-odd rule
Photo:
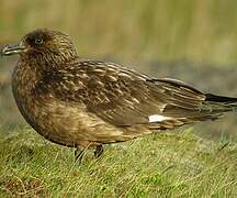
[[236, 110], [237, 98], [203, 94], [176, 79], [154, 78], [102, 61], [78, 56], [69, 37], [40, 29], [7, 45], [20, 54], [12, 91], [24, 119], [45, 139], [103, 153], [103, 144], [124, 142]]

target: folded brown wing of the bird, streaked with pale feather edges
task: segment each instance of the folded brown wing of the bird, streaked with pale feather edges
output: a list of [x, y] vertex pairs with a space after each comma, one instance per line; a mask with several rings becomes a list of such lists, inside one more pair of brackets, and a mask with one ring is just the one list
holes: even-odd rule
[[112, 63], [75, 62], [65, 70], [45, 74], [43, 81], [44, 87], [38, 84], [37, 90], [49, 90], [74, 105], [83, 103], [90, 113], [117, 127], [148, 124], [159, 129], [161, 124], [149, 123], [149, 117], [158, 114], [173, 118], [162, 122], [163, 128], [171, 128], [210, 112], [203, 106], [205, 95], [193, 87], [179, 80], [155, 79]]

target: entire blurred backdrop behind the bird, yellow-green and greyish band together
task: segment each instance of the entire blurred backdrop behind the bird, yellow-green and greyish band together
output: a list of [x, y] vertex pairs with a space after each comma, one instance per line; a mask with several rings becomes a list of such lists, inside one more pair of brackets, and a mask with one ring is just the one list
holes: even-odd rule
[[[237, 1], [0, 0], [0, 45], [36, 28], [57, 29], [71, 35], [83, 58], [114, 61], [237, 97]], [[22, 123], [10, 91], [15, 61], [0, 59], [3, 130]], [[236, 121], [230, 116], [199, 124], [195, 131], [235, 136]]]

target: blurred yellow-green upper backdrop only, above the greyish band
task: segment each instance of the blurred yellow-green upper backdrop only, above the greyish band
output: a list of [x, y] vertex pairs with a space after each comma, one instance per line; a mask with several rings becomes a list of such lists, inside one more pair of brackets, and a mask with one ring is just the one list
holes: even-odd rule
[[236, 63], [234, 0], [0, 0], [0, 42], [35, 28], [69, 33], [83, 56]]

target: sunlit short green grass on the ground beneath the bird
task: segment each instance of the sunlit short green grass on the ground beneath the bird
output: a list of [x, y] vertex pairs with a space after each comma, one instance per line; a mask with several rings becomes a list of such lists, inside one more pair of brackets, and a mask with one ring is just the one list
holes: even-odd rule
[[27, 128], [0, 133], [0, 197], [236, 197], [237, 144], [192, 129], [106, 145], [81, 165], [74, 150]]

